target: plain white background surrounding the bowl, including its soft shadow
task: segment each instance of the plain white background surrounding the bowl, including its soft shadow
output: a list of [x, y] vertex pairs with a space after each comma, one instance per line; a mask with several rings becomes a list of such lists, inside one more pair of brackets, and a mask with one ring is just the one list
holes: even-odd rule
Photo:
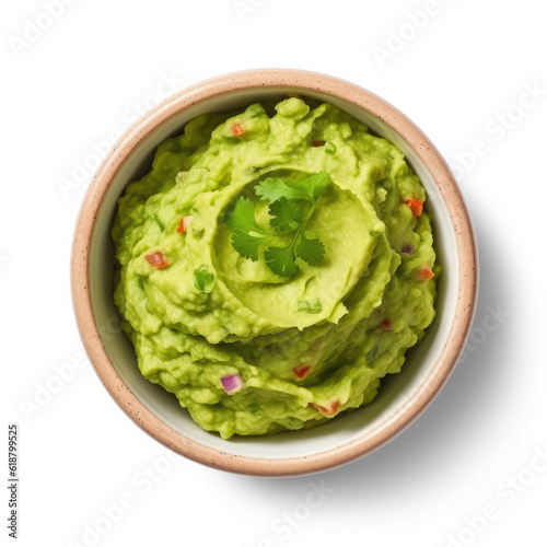
[[[2, 428], [21, 430], [19, 545], [546, 545], [543, 3], [71, 1], [53, 22], [39, 0], [3, 2], [0, 18], [1, 398]], [[94, 149], [176, 89], [263, 67], [330, 73], [405, 112], [456, 171], [480, 247], [473, 340], [442, 394], [374, 454], [295, 479], [166, 459], [75, 366], [69, 292]], [[310, 509], [311, 484], [329, 493]]]

